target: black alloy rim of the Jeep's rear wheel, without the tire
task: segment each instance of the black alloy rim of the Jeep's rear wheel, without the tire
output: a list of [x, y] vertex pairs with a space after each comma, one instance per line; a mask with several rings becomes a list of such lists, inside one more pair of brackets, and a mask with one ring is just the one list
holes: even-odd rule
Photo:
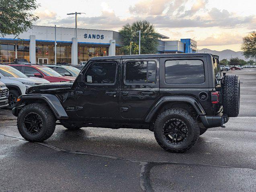
[[188, 137], [188, 126], [180, 119], [172, 118], [163, 125], [164, 138], [172, 144], [181, 144]]

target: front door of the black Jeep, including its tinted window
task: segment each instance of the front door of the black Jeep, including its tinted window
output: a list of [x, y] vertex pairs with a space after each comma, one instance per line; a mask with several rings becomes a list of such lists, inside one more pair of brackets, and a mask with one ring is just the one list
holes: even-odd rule
[[82, 71], [84, 82], [76, 88], [77, 115], [88, 118], [113, 118], [119, 110], [120, 60], [88, 63]]

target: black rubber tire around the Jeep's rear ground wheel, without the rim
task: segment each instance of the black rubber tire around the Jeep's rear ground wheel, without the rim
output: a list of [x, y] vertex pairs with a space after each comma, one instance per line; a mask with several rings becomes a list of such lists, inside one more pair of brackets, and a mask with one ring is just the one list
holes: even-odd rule
[[[181, 144], [170, 143], [163, 134], [164, 124], [172, 119], [182, 120], [188, 127], [188, 136], [184, 142]], [[165, 110], [158, 115], [155, 124], [154, 124], [154, 135], [158, 144], [167, 150], [168, 152], [181, 153], [189, 150], [192, 146], [195, 145], [199, 138], [200, 128], [198, 122], [190, 116], [190, 114], [182, 108], [172, 108]]]

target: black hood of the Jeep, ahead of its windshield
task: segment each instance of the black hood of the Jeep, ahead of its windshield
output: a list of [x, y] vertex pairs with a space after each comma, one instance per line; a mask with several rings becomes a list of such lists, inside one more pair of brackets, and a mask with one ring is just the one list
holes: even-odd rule
[[28, 93], [54, 93], [64, 90], [70, 90], [72, 87], [72, 82], [55, 82], [49, 84], [41, 84], [32, 86], [27, 89], [26, 94]]

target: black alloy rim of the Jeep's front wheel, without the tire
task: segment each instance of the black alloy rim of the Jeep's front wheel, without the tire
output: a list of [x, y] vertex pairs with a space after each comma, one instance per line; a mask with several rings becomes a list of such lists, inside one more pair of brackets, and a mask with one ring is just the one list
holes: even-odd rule
[[36, 135], [43, 127], [43, 120], [39, 114], [30, 112], [25, 116], [23, 124], [29, 134]]

